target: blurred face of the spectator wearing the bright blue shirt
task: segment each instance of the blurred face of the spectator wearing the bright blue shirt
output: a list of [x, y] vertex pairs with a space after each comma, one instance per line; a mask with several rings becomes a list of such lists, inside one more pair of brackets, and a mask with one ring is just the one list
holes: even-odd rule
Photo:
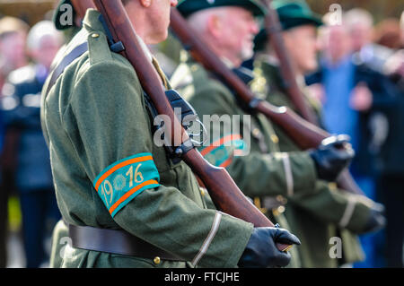
[[332, 63], [337, 63], [351, 53], [352, 46], [346, 27], [332, 25], [323, 31], [321, 39], [323, 51]]

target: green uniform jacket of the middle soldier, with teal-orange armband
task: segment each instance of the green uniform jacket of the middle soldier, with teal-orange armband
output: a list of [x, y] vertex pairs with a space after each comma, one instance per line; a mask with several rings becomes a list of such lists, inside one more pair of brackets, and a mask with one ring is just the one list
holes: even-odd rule
[[[190, 61], [181, 64], [171, 84], [189, 100], [206, 126], [208, 138], [200, 147], [201, 154], [215, 166], [226, 168], [271, 221], [290, 230], [282, 214], [285, 202], [292, 196], [312, 194], [317, 181], [307, 152], [279, 152], [269, 121], [259, 114], [250, 116], [232, 91], [201, 65]], [[207, 119], [209, 116], [214, 117]], [[295, 248], [291, 252], [290, 266], [300, 267]]]

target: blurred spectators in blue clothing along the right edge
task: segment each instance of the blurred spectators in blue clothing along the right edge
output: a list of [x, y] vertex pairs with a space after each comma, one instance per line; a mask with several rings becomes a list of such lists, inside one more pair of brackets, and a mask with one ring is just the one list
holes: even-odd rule
[[306, 77], [321, 101], [323, 126], [348, 134], [356, 151], [350, 170], [364, 193], [386, 207], [385, 232], [361, 238], [366, 260], [357, 266], [403, 266], [404, 13], [374, 24], [352, 9], [319, 31], [319, 70]]

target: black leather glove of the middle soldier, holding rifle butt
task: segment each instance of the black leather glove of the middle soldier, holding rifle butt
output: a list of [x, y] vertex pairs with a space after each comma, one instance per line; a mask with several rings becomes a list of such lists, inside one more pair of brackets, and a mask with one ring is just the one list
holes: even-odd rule
[[330, 136], [317, 149], [309, 151], [317, 169], [318, 178], [335, 181], [355, 157], [348, 135]]

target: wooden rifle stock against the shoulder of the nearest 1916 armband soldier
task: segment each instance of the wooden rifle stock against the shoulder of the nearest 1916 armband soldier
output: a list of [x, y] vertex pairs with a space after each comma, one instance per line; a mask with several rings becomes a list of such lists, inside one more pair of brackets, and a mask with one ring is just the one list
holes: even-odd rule
[[[162, 80], [145, 56], [121, 0], [93, 0], [93, 3], [107, 23], [114, 42], [120, 41], [125, 47], [120, 54], [133, 65], [143, 89], [154, 102], [158, 113], [171, 118], [171, 134], [165, 134], [171, 145], [180, 146], [187, 142], [189, 136], [174, 115], [163, 90]], [[203, 181], [218, 210], [249, 221], [255, 227], [274, 227], [274, 224], [242, 194], [225, 169], [209, 164], [195, 148], [186, 152], [182, 159]], [[281, 251], [286, 251], [289, 247], [277, 244]]]

